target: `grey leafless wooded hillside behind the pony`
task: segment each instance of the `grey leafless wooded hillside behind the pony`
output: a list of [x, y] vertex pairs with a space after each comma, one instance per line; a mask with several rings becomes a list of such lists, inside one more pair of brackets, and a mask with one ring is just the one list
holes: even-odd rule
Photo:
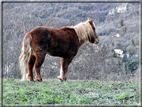
[[[69, 80], [136, 81], [140, 75], [138, 3], [3, 3], [3, 77], [21, 78], [24, 35], [37, 26], [62, 28], [92, 19], [98, 45], [85, 43], [69, 66]], [[121, 54], [115, 50], [121, 50]], [[56, 79], [60, 58], [46, 55], [43, 79]]]

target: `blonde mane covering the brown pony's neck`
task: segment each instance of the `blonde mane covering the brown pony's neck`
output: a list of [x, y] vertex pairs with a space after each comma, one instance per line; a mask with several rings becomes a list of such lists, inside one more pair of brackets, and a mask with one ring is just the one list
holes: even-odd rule
[[93, 35], [94, 33], [92, 26], [89, 23], [89, 20], [87, 20], [86, 22], [81, 22], [76, 26], [73, 26], [73, 28], [77, 33], [80, 44], [83, 44], [84, 42], [88, 41], [89, 38], [91, 38], [91, 35]]

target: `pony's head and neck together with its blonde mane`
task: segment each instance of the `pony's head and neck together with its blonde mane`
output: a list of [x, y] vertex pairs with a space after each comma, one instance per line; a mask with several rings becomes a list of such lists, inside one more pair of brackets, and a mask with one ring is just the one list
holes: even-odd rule
[[99, 38], [95, 30], [95, 24], [92, 20], [87, 20], [85, 22], [79, 23], [74, 26], [74, 29], [77, 33], [80, 44], [83, 44], [86, 41], [95, 44], [99, 43]]

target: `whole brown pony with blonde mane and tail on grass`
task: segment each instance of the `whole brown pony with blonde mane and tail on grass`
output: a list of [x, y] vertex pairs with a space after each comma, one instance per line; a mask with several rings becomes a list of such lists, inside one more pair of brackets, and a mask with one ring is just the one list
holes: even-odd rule
[[[61, 57], [60, 81], [66, 81], [68, 66], [77, 54], [80, 46], [89, 41], [98, 44], [99, 38], [95, 31], [95, 24], [92, 20], [87, 20], [76, 26], [54, 29], [40, 26], [28, 32], [23, 40], [22, 52], [19, 63], [22, 73], [22, 80], [26, 77], [33, 80], [33, 67], [35, 67], [36, 80], [42, 81], [41, 65], [45, 55]], [[28, 65], [28, 74], [26, 69]]]

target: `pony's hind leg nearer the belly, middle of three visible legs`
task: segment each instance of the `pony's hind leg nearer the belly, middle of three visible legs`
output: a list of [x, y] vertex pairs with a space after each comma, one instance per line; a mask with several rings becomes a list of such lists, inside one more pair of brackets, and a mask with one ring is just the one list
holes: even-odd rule
[[40, 51], [40, 52], [36, 52], [36, 61], [35, 61], [35, 78], [36, 78], [36, 81], [40, 82], [42, 81], [42, 77], [41, 77], [41, 65], [43, 64], [44, 62], [44, 59], [45, 59], [45, 55], [46, 55], [46, 52], [45, 51]]

